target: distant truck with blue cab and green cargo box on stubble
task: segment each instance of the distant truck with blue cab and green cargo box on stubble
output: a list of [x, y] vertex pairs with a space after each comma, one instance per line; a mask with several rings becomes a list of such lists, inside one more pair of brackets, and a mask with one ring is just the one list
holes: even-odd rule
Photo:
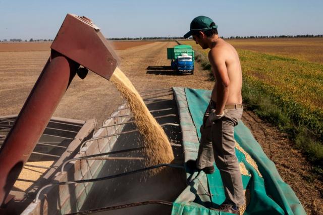
[[167, 59], [171, 68], [179, 74], [194, 73], [194, 50], [191, 45], [175, 45], [167, 48]]

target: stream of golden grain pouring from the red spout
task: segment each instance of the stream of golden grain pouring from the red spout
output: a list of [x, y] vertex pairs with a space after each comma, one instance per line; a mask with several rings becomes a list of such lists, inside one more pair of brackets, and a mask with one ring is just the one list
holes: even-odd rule
[[[173, 162], [173, 149], [167, 135], [152, 117], [131, 81], [118, 67], [111, 76], [110, 81], [128, 100], [135, 124], [140, 134], [144, 137], [144, 153], [147, 155], [147, 159], [144, 161], [145, 165], [153, 166]], [[152, 174], [158, 172], [157, 169], [154, 170]]]

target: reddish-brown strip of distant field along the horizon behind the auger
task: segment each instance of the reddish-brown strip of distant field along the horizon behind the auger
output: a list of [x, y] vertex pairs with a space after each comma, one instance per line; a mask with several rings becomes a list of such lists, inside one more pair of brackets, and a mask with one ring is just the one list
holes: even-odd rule
[[[111, 45], [116, 50], [124, 50], [152, 43], [153, 41], [111, 41]], [[0, 43], [1, 51], [49, 51], [51, 42], [2, 42]]]

